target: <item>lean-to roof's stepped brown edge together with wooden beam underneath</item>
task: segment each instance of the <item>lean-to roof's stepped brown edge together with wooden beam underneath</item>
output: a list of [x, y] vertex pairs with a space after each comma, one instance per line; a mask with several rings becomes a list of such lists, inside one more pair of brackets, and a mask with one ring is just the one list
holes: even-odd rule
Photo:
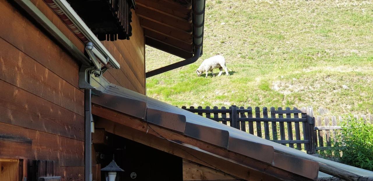
[[102, 118], [96, 123], [100, 128], [128, 139], [138, 138], [139, 135], [127, 135], [131, 130], [150, 135], [151, 143], [147, 144], [152, 147], [161, 149], [166, 143], [154, 146], [153, 139], [162, 139], [160, 142], [174, 145], [174, 149], [230, 162], [242, 167], [232, 173], [240, 178], [250, 179], [243, 170], [280, 180], [315, 180], [318, 175], [317, 162], [276, 153], [273, 146], [252, 141], [252, 135], [238, 135], [235, 131], [240, 130], [233, 131], [229, 126], [125, 88], [109, 85], [100, 96], [94, 95], [92, 102], [93, 114]]

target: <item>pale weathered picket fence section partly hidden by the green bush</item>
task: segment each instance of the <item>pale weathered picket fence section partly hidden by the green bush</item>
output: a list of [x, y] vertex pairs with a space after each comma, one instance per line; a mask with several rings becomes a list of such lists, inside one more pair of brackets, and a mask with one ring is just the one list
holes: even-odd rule
[[[373, 115], [354, 115], [355, 118], [363, 118], [366, 124], [373, 124]], [[316, 117], [316, 126], [314, 127], [315, 130], [315, 149], [316, 150], [330, 150], [332, 149], [332, 142], [331, 139], [335, 139], [336, 134], [338, 131], [341, 130], [341, 126], [338, 126], [338, 123], [343, 121], [342, 116], [317, 116]]]

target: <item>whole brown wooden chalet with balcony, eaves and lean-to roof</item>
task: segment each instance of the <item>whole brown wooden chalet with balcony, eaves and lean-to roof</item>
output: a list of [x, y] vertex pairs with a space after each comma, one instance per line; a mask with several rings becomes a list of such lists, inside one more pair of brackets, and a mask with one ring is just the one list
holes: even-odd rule
[[[372, 176], [148, 98], [146, 77], [202, 55], [204, 10], [205, 0], [0, 0], [0, 181]], [[185, 60], [145, 72], [145, 44]]]

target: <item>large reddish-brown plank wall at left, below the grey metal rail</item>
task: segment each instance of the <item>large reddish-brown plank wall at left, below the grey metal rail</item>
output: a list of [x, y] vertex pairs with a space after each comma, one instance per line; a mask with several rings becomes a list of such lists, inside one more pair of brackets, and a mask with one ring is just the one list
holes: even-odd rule
[[55, 161], [64, 180], [84, 180], [78, 69], [40, 27], [0, 0], [0, 158]]

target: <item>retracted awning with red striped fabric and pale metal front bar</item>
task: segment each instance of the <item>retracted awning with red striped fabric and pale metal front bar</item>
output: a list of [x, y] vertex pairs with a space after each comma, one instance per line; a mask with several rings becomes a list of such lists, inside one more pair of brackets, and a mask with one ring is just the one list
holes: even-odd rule
[[[66, 0], [44, 0], [48, 6], [60, 17], [66, 16], [68, 18], [68, 22], [72, 23], [67, 25], [74, 33], [78, 36], [79, 39], [86, 38], [86, 42], [92, 42], [93, 46], [100, 51], [105, 57], [108, 58], [110, 64], [105, 64], [108, 69], [111, 69], [112, 66], [116, 69], [120, 69], [119, 63], [115, 60], [112, 54], [104, 47], [104, 45], [98, 40], [98, 38], [93, 34], [93, 32], [88, 28], [88, 26], [84, 23], [84, 21], [79, 17], [78, 14], [72, 9], [70, 4]], [[63, 22], [66, 22], [66, 19], [62, 19]], [[82, 34], [83, 37], [79, 36]]]

